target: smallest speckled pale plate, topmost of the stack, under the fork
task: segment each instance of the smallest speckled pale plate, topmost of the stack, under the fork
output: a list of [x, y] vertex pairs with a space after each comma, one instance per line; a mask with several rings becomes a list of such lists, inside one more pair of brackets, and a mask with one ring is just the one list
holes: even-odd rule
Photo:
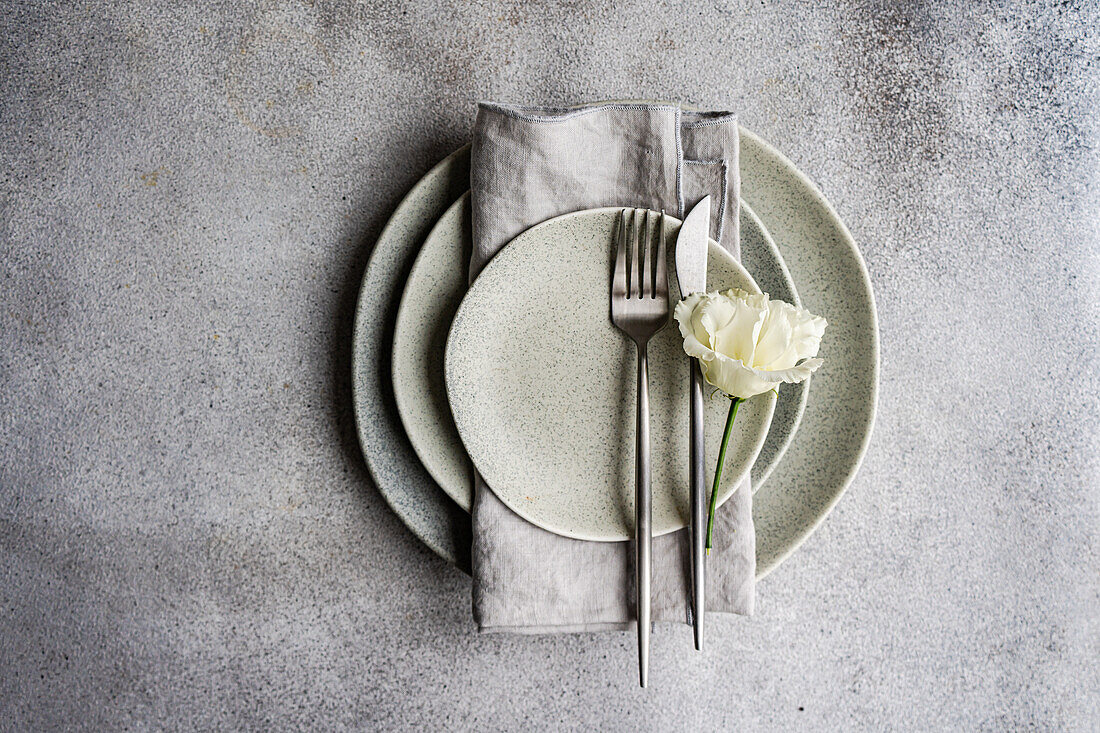
[[[634, 536], [635, 348], [609, 318], [620, 211], [566, 214], [519, 234], [471, 285], [447, 341], [447, 393], [473, 464], [516, 514], [575, 539]], [[666, 217], [664, 225], [674, 271], [680, 221]], [[669, 280], [676, 292], [674, 272]], [[707, 282], [759, 292], [714, 241]], [[683, 374], [682, 338], [664, 328], [649, 342], [654, 535], [690, 517]], [[738, 414], [719, 503], [748, 477], [774, 403], [767, 393]], [[728, 402], [704, 405], [708, 435], [722, 435]], [[708, 442], [707, 463], [717, 449]]]

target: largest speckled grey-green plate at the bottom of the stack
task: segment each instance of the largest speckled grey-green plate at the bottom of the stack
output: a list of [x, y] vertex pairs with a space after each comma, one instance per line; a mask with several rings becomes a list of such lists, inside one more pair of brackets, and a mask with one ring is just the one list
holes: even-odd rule
[[[429, 171], [397, 207], [363, 275], [352, 344], [354, 411], [371, 475], [409, 529], [464, 570], [470, 515], [417, 460], [388, 380], [405, 276], [435, 222], [469, 187], [469, 164], [468, 146]], [[743, 199], [779, 243], [803, 305], [829, 320], [821, 353], [826, 364], [814, 378], [803, 424], [755, 501], [757, 575], [762, 577], [824, 519], [862, 460], [878, 394], [878, 322], [862, 258], [813, 183], [744, 128], [740, 167]], [[811, 417], [812, 431], [806, 429]]]

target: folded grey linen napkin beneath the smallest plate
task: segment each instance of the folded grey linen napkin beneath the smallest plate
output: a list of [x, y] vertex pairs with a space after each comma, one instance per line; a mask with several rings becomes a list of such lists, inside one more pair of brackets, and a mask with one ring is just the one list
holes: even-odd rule
[[[471, 151], [470, 280], [514, 237], [552, 217], [639, 206], [683, 218], [707, 194], [715, 203], [712, 237], [739, 255], [737, 143], [734, 116], [686, 112], [678, 105], [563, 110], [482, 103]], [[684, 420], [686, 430], [686, 415]], [[482, 631], [634, 624], [631, 543], [584, 541], [536, 527], [480, 477], [472, 518], [473, 609]], [[756, 535], [747, 481], [718, 510], [715, 540], [707, 610], [751, 614]], [[690, 558], [686, 530], [653, 539], [654, 621], [690, 623]]]

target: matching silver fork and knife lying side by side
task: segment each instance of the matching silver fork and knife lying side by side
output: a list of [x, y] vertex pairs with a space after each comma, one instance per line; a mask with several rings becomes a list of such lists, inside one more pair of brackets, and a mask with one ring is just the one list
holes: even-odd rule
[[[657, 216], [656, 231], [650, 218]], [[638, 408], [635, 456], [635, 593], [638, 619], [638, 680], [649, 678], [650, 580], [652, 566], [652, 495], [649, 460], [649, 360], [647, 347], [669, 322], [669, 274], [664, 211], [623, 209], [617, 225], [615, 267], [612, 275], [612, 322], [638, 349]], [[684, 219], [676, 238], [675, 265], [681, 297], [706, 289], [706, 248], [711, 197], [701, 200]], [[703, 384], [694, 360], [691, 380], [691, 555], [692, 620], [695, 648], [703, 648], [705, 610], [705, 472], [703, 468]]]

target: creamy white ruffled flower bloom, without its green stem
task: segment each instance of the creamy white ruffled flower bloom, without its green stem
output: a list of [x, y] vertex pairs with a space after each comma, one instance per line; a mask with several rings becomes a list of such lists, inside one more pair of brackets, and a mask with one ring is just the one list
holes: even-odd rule
[[[696, 293], [676, 304], [684, 351], [706, 381], [747, 400], [782, 382], [802, 382], [818, 366], [825, 319], [768, 294]], [[800, 360], [802, 363], [799, 363]]]

